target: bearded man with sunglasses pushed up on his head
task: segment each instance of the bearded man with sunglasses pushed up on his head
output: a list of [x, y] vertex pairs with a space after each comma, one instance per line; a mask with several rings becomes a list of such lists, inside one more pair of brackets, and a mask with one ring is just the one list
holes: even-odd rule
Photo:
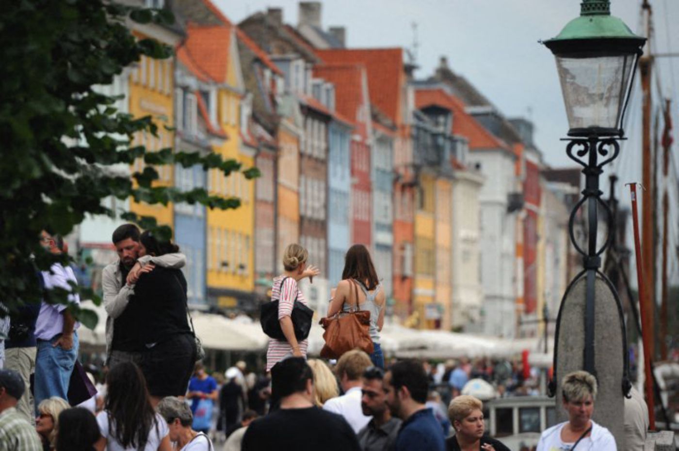
[[364, 415], [373, 417], [358, 435], [363, 451], [391, 450], [401, 427], [401, 420], [392, 417], [386, 405], [382, 379], [382, 368], [371, 366], [363, 372], [361, 408]]

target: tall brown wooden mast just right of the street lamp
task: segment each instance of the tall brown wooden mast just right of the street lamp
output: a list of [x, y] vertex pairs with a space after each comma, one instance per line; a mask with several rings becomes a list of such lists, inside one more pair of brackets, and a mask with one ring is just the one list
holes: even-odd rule
[[[650, 94], [650, 75], [652, 66], [652, 57], [650, 56], [650, 5], [648, 0], [644, 0], [642, 5], [644, 14], [646, 16], [646, 51], [644, 56], [639, 58], [639, 71], [641, 75], [641, 86], [642, 86], [642, 184], [644, 189], [646, 189], [646, 195], [644, 197], [644, 202], [642, 203], [642, 222], [644, 228], [642, 229], [642, 261], [641, 267], [644, 273], [644, 277], [648, 280], [648, 299], [649, 302], [644, 302], [644, 305], [640, 305], [642, 311], [646, 311], [643, 317], [646, 317], [648, 323], [642, 323], [642, 327], [646, 330], [652, 331], [655, 328], [654, 319], [654, 305], [655, 302], [655, 256], [653, 254], [653, 212], [655, 210], [655, 199], [653, 199], [653, 174], [652, 174], [652, 164], [653, 164], [653, 149], [650, 145], [650, 120], [651, 120], [651, 94]], [[643, 320], [642, 320], [643, 321]], [[655, 357], [655, 339], [653, 335], [650, 335], [650, 342], [648, 343], [648, 354], [644, 357], [644, 360], [652, 360]], [[644, 339], [644, 348], [646, 347]], [[653, 392], [651, 392], [653, 394]]]

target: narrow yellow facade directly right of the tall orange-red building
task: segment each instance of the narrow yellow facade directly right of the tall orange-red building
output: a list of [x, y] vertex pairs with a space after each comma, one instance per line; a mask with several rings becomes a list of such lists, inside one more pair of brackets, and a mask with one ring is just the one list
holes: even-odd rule
[[415, 283], [414, 311], [420, 316], [420, 328], [433, 329], [441, 319], [435, 303], [436, 235], [435, 235], [435, 176], [420, 175], [420, 195], [415, 214]]

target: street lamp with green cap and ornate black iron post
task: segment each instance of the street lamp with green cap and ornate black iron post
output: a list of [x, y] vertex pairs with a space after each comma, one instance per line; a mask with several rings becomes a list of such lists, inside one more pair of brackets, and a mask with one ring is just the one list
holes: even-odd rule
[[[576, 275], [566, 289], [559, 307], [554, 345], [554, 376], [549, 383], [549, 394], [554, 395], [557, 380], [557, 343], [559, 326], [566, 298], [571, 288], [586, 277], [585, 286], [585, 347], [583, 368], [596, 375], [594, 366], [594, 306], [595, 283], [599, 277], [606, 283], [617, 302], [623, 336], [623, 393], [629, 391], [627, 338], [619, 296], [599, 268], [601, 254], [612, 238], [612, 214], [601, 199], [599, 177], [603, 166], [620, 152], [618, 140], [623, 138], [623, 119], [627, 100], [634, 83], [638, 58], [646, 38], [632, 33], [619, 18], [610, 16], [609, 0], [583, 0], [580, 17], [568, 22], [559, 35], [543, 43], [556, 58], [566, 114], [568, 115], [568, 144], [566, 153], [583, 167], [585, 189], [570, 214], [568, 232], [579, 254], [583, 256], [583, 271]], [[575, 150], [576, 148], [579, 148]], [[600, 157], [602, 161], [600, 161]], [[583, 250], [574, 235], [576, 213], [587, 203], [587, 250]], [[598, 208], [608, 218], [608, 237], [597, 246]]]

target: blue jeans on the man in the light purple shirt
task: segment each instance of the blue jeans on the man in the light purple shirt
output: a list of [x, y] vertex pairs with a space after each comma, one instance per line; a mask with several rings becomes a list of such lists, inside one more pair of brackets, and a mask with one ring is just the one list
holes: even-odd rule
[[35, 357], [35, 411], [43, 399], [58, 396], [69, 399], [69, 381], [78, 355], [78, 334], [73, 332], [73, 347], [63, 349], [52, 346], [61, 334], [52, 340], [37, 340]]

